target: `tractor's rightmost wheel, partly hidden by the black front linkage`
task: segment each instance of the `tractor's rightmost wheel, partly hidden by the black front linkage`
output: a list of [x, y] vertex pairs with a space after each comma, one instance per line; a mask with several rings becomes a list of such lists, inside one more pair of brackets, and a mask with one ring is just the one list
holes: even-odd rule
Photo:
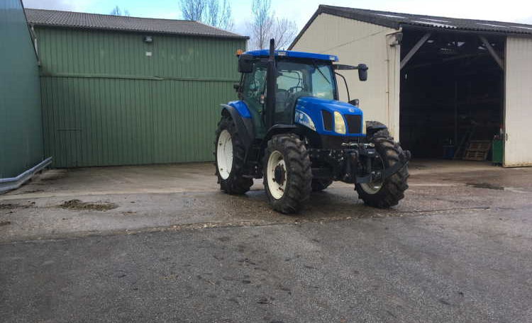
[[[375, 144], [375, 150], [379, 154], [382, 163], [375, 164], [375, 170], [382, 170], [394, 166], [398, 162], [406, 159], [406, 155], [394, 139], [389, 136], [388, 130], [379, 130], [373, 135], [371, 142]], [[405, 165], [397, 173], [387, 179], [374, 181], [372, 183], [355, 184], [358, 197], [364, 203], [375, 208], [389, 208], [397, 205], [399, 200], [404, 198], [404, 191], [409, 187], [408, 165]]]

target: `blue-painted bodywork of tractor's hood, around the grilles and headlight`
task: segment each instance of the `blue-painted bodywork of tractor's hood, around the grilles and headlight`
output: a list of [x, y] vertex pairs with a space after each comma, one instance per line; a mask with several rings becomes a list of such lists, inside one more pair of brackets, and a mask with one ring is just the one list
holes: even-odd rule
[[[337, 132], [331, 131], [331, 130], [325, 130], [323, 127], [323, 117], [321, 115], [321, 111], [325, 110], [333, 114], [335, 111], [338, 111], [341, 115], [344, 116], [344, 122], [347, 124], [347, 120], [345, 120], [345, 115], [360, 115], [360, 132], [359, 133], [348, 133], [347, 134], [339, 134]], [[362, 125], [363, 125], [363, 118], [362, 118], [362, 110], [360, 108], [353, 106], [349, 103], [336, 101], [336, 100], [328, 100], [325, 98], [315, 98], [311, 96], [302, 96], [297, 100], [296, 103], [296, 111], [301, 111], [303, 113], [306, 113], [309, 115], [309, 117], [314, 122], [314, 125], [316, 126], [316, 132], [318, 132], [320, 135], [335, 135], [335, 136], [347, 136], [347, 137], [361, 137], [364, 136], [362, 133]], [[297, 122], [297, 120], [296, 120]]]

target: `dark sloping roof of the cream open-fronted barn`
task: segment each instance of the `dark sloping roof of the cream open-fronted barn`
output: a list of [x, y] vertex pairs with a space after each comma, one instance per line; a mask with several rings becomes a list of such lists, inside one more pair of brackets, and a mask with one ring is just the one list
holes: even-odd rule
[[312, 21], [321, 13], [328, 13], [333, 16], [350, 18], [366, 23], [399, 29], [404, 26], [417, 26], [423, 28], [435, 28], [443, 30], [469, 30], [482, 33], [507, 33], [507, 34], [528, 34], [532, 35], [532, 25], [523, 23], [504, 23], [501, 21], [483, 21], [475, 19], [449, 18], [440, 16], [424, 16], [411, 13], [397, 13], [390, 11], [375, 11], [359, 8], [347, 8], [340, 6], [327, 6], [321, 4], [314, 16], [301, 30], [297, 38], [289, 48], [301, 38], [301, 35], [311, 25]]

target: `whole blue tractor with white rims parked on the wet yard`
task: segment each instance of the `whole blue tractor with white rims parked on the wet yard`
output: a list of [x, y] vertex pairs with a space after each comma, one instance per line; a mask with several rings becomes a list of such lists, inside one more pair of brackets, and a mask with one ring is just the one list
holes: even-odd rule
[[[238, 55], [238, 101], [222, 105], [216, 131], [216, 175], [229, 194], [249, 191], [262, 178], [270, 205], [297, 212], [312, 191], [333, 181], [355, 184], [359, 198], [389, 208], [404, 198], [410, 152], [382, 123], [367, 121], [358, 100], [338, 101], [334, 55], [274, 50]], [[347, 87], [347, 83], [345, 82]], [[348, 92], [349, 93], [349, 92]]]

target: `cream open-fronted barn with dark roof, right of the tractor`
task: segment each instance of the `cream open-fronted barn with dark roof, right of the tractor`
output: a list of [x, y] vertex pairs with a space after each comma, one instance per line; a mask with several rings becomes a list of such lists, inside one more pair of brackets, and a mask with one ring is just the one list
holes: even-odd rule
[[289, 49], [367, 64], [366, 82], [343, 73], [351, 98], [414, 158], [491, 159], [484, 142], [532, 165], [530, 25], [321, 5]]

